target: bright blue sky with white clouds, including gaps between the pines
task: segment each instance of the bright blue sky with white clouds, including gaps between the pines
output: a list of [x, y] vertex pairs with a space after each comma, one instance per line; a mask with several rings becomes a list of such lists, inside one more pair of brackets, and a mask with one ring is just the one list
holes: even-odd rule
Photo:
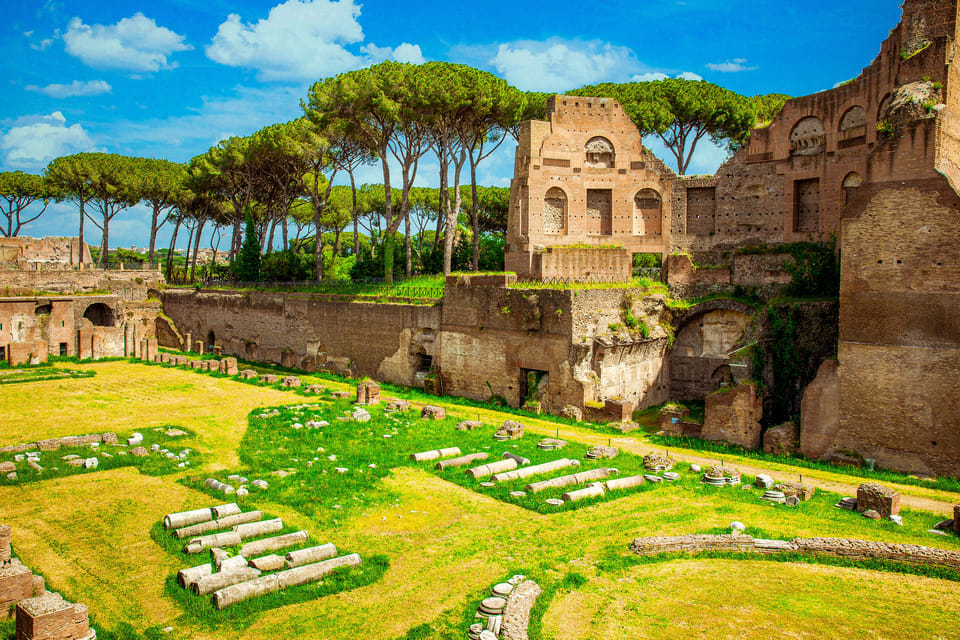
[[[806, 95], [867, 66], [899, 5], [6, 0], [0, 169], [39, 172], [90, 150], [187, 161], [222, 138], [297, 117], [311, 82], [385, 59], [471, 64], [527, 90], [686, 74], [744, 94]], [[509, 184], [512, 158], [504, 148], [481, 181]], [[691, 171], [712, 173], [723, 159], [705, 146]], [[438, 184], [437, 171], [425, 158], [419, 182]], [[379, 172], [361, 179], [377, 182]], [[111, 245], [143, 246], [144, 216], [118, 216]], [[25, 235], [75, 226], [74, 208], [60, 204]]]

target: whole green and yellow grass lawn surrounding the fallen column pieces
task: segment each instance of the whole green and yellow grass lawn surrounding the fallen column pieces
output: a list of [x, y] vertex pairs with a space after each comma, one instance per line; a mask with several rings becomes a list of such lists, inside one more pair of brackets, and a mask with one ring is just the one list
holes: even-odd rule
[[[958, 581], [723, 558], [637, 564], [627, 549], [638, 536], [719, 532], [732, 520], [772, 538], [844, 536], [960, 549], [956, 538], [926, 532], [939, 517], [920, 508], [924, 500], [960, 502], [957, 494], [904, 487], [905, 526], [896, 527], [834, 509], [839, 493], [820, 490], [810, 502], [786, 508], [759, 501], [756, 491], [704, 487], [688, 469], [691, 460], [707, 456], [685, 451], [679, 452], [684, 459], [676, 470], [684, 480], [678, 484], [646, 485], [554, 512], [543, 503], [552, 493], [509, 496], [529, 480], [488, 490], [462, 469], [438, 472], [407, 456], [459, 446], [465, 454], [488, 451], [491, 459], [517, 451], [536, 463], [582, 458], [588, 444], [612, 439], [620, 456], [585, 462], [581, 469], [613, 466], [626, 475], [638, 465], [631, 453], [662, 448], [645, 442], [643, 434], [611, 436], [527, 418], [519, 418], [528, 425], [524, 439], [499, 443], [491, 438], [494, 425], [516, 416], [454, 405], [448, 407], [452, 417], [441, 422], [421, 421], [418, 412], [384, 416], [382, 405], [371, 409], [370, 422], [341, 422], [336, 417], [350, 405], [330, 398], [127, 362], [70, 368], [96, 376], [0, 388], [0, 446], [177, 425], [195, 434], [191, 446], [201, 454], [200, 469], [164, 476], [122, 468], [0, 486], [0, 518], [14, 527], [15, 553], [50, 588], [87, 604], [103, 637], [129, 624], [139, 632], [172, 626], [164, 635], [170, 638], [462, 638], [480, 599], [513, 573], [545, 589], [532, 638], [822, 638], [839, 628], [852, 638], [957, 637]], [[307, 384], [310, 377], [303, 377]], [[278, 415], [264, 407], [278, 407]], [[478, 414], [488, 426], [455, 430], [458, 418]], [[294, 428], [314, 416], [330, 426]], [[569, 441], [566, 448], [536, 448], [542, 435], [558, 431]], [[763, 460], [725, 460], [746, 474], [747, 468], [773, 468], [774, 475], [791, 478], [799, 472], [807, 479], [809, 473], [823, 485], [855, 487], [862, 481]], [[338, 473], [337, 467], [349, 471]], [[296, 473], [270, 475], [281, 468]], [[191, 610], [165, 586], [184, 559], [158, 544], [151, 529], [165, 513], [225, 501], [200, 486], [206, 477], [224, 480], [232, 472], [270, 483], [264, 492], [251, 490], [242, 506], [307, 529], [317, 544], [334, 542], [364, 559], [385, 556], [389, 568], [348, 590], [231, 619]], [[0, 638], [12, 637], [8, 628], [0, 625]]]

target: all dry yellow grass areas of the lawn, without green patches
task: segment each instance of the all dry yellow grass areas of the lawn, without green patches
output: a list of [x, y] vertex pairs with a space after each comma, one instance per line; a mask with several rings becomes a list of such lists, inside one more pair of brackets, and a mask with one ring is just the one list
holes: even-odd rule
[[[0, 444], [177, 424], [197, 431], [196, 446], [210, 454], [211, 467], [230, 467], [253, 408], [299, 402], [288, 392], [192, 372], [127, 363], [90, 366], [94, 378], [0, 389], [0, 423], [10, 425]], [[490, 420], [505, 417], [483, 413]], [[555, 429], [544, 422], [534, 428]], [[563, 435], [606, 442], [567, 427], [561, 427]], [[361, 555], [386, 553], [391, 566], [374, 584], [262, 614], [226, 635], [395, 638], [445, 612], [467, 609], [519, 567], [550, 576], [576, 570], [591, 578], [575, 593], [561, 592], [550, 608], [545, 630], [557, 638], [813, 638], [831, 637], [841, 627], [854, 638], [933, 638], [927, 632], [938, 628], [950, 637], [952, 628], [942, 623], [958, 614], [960, 583], [834, 567], [683, 560], [597, 573], [597, 559], [624, 551], [636, 536], [725, 526], [732, 519], [729, 505], [683, 504], [650, 492], [543, 516], [416, 469], [397, 469], [384, 484], [396, 495], [394, 504], [327, 528], [284, 505], [259, 504], [310, 530], [318, 542]], [[174, 476], [125, 469], [0, 488], [0, 520], [14, 525], [15, 548], [24, 561], [65, 596], [86, 603], [100, 624], [169, 624], [182, 637], [213, 640], [224, 634], [178, 619], [181, 611], [164, 595], [163, 580], [180, 567], [148, 534], [164, 513], [209, 503]], [[738, 518], [771, 535], [823, 533], [799, 511], [775, 516], [765, 505], [736, 508]], [[898, 541], [898, 535], [890, 532], [887, 539]], [[930, 597], [918, 598], [921, 590]], [[911, 629], [920, 633], [906, 635]]]

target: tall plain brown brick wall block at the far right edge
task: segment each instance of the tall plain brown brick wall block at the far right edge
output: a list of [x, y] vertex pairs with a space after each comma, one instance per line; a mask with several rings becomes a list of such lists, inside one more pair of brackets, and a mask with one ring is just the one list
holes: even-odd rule
[[837, 449], [921, 474], [960, 466], [960, 198], [878, 191], [844, 222]]

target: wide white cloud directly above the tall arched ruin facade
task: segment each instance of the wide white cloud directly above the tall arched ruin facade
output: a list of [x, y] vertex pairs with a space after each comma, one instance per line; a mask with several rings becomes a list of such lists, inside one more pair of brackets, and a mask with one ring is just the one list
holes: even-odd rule
[[501, 44], [488, 62], [507, 82], [525, 91], [565, 91], [642, 71], [631, 49], [595, 40]]

